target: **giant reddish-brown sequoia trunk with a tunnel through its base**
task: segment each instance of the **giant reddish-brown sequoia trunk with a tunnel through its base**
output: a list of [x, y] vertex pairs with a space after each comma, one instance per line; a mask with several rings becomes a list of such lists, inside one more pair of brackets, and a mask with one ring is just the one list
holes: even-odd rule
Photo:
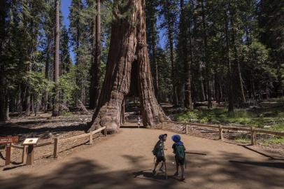
[[[167, 119], [157, 103], [150, 73], [145, 34], [145, 0], [115, 1], [111, 44], [106, 77], [94, 112], [90, 130], [106, 126], [118, 132], [121, 108], [132, 78], [137, 83], [143, 125], [149, 127]], [[132, 70], [134, 69], [134, 70]]]

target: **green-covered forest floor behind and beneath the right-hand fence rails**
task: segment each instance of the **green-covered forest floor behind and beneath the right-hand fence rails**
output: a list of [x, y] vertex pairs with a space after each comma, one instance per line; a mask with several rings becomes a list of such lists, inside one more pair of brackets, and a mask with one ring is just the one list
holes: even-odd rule
[[[228, 113], [222, 104], [215, 104], [213, 109], [199, 106], [194, 111], [183, 111], [173, 115], [175, 120], [193, 123], [209, 123], [217, 125], [253, 126], [264, 130], [284, 132], [284, 99], [269, 99], [250, 106], [248, 109], [236, 109]], [[284, 148], [284, 137], [258, 135], [258, 142], [262, 146], [279, 146]], [[246, 144], [250, 137], [240, 132], [230, 139]]]

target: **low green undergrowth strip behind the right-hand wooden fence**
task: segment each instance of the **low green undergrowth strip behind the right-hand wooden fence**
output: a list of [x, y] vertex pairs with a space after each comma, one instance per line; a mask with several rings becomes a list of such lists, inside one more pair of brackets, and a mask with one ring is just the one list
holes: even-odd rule
[[266, 130], [284, 131], [284, 109], [237, 109], [228, 113], [227, 109], [201, 109], [200, 111], [187, 111], [178, 113], [175, 119], [183, 122], [213, 123], [213, 124], [237, 124], [260, 127]]

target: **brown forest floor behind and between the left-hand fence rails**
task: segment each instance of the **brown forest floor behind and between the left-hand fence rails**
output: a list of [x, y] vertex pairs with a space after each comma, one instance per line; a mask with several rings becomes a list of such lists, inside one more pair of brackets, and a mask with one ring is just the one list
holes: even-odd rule
[[[86, 123], [89, 122], [92, 115], [72, 115], [59, 116], [52, 118], [50, 113], [39, 113], [37, 116], [12, 118], [7, 123], [0, 125], [0, 137], [12, 135], [18, 136], [17, 145], [20, 146], [26, 138], [38, 138], [38, 144], [54, 141], [54, 137], [66, 139], [69, 137], [85, 134], [87, 130]], [[94, 135], [95, 140], [101, 140], [99, 135]], [[76, 139], [66, 142], [60, 148], [61, 156], [65, 157], [73, 151], [78, 151], [78, 147], [85, 148], [88, 145], [88, 138]], [[53, 144], [38, 147], [34, 153], [35, 162], [48, 162], [52, 159]], [[3, 167], [5, 161], [4, 145], [0, 146], [0, 167]], [[12, 165], [10, 168], [21, 166], [22, 150], [13, 148], [11, 156]]]

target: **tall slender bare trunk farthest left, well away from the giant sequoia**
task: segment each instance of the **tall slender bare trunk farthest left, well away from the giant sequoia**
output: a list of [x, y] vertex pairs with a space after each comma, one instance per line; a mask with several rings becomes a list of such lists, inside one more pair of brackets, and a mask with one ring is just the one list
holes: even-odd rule
[[54, 97], [52, 116], [59, 116], [59, 0], [55, 3], [55, 65], [54, 65]]

